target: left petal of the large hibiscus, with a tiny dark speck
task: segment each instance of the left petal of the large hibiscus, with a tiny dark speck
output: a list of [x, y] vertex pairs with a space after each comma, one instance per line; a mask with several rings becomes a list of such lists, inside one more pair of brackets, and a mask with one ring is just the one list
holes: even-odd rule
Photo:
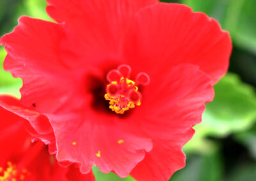
[[56, 111], [67, 100], [67, 89], [72, 87], [68, 80], [74, 74], [68, 74], [70, 70], [59, 58], [62, 36], [58, 24], [21, 17], [14, 31], [0, 39], [8, 52], [4, 69], [22, 78], [23, 106], [47, 113]]

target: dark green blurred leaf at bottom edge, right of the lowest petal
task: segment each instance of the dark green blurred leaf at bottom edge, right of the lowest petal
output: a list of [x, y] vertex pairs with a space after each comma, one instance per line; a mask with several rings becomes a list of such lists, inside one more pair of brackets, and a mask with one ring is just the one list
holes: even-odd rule
[[173, 174], [170, 181], [216, 181], [223, 180], [223, 165], [218, 152], [209, 155], [191, 156], [186, 167]]

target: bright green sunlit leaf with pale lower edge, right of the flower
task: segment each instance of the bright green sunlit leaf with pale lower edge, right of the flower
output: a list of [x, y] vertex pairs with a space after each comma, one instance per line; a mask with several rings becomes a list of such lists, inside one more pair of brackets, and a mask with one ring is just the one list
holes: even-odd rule
[[250, 129], [256, 121], [256, 96], [250, 85], [228, 73], [215, 86], [215, 97], [206, 104], [202, 123], [196, 125], [193, 138], [184, 146], [186, 153], [209, 153], [216, 143], [207, 136], [223, 137]]

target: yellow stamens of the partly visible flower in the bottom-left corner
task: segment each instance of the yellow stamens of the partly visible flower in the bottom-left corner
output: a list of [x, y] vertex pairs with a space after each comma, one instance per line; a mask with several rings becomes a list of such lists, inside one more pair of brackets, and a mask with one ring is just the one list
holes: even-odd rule
[[0, 181], [17, 181], [24, 180], [29, 173], [25, 169], [18, 170], [15, 164], [8, 161], [6, 170], [0, 167], [0, 175]]

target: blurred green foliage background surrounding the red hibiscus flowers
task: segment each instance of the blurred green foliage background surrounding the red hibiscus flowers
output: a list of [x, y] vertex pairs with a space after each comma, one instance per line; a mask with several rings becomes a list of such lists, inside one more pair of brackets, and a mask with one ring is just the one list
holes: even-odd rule
[[[202, 124], [184, 147], [186, 167], [172, 181], [256, 180], [256, 0], [180, 0], [216, 18], [232, 36], [233, 51], [227, 75], [214, 86]], [[20, 15], [51, 20], [45, 0], [0, 0], [0, 36], [12, 31]], [[3, 71], [6, 52], [0, 47], [0, 93], [20, 96], [22, 81]], [[97, 180], [133, 180], [104, 174]]]

